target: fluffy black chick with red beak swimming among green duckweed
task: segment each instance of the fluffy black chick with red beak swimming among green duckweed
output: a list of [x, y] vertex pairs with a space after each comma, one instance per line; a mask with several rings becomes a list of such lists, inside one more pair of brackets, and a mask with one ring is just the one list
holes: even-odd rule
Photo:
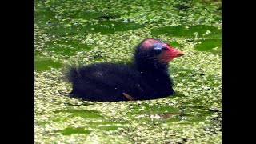
[[86, 101], [129, 101], [165, 98], [174, 94], [168, 62], [180, 50], [156, 38], [143, 40], [128, 64], [96, 63], [71, 67], [66, 78], [73, 85], [71, 97]]

